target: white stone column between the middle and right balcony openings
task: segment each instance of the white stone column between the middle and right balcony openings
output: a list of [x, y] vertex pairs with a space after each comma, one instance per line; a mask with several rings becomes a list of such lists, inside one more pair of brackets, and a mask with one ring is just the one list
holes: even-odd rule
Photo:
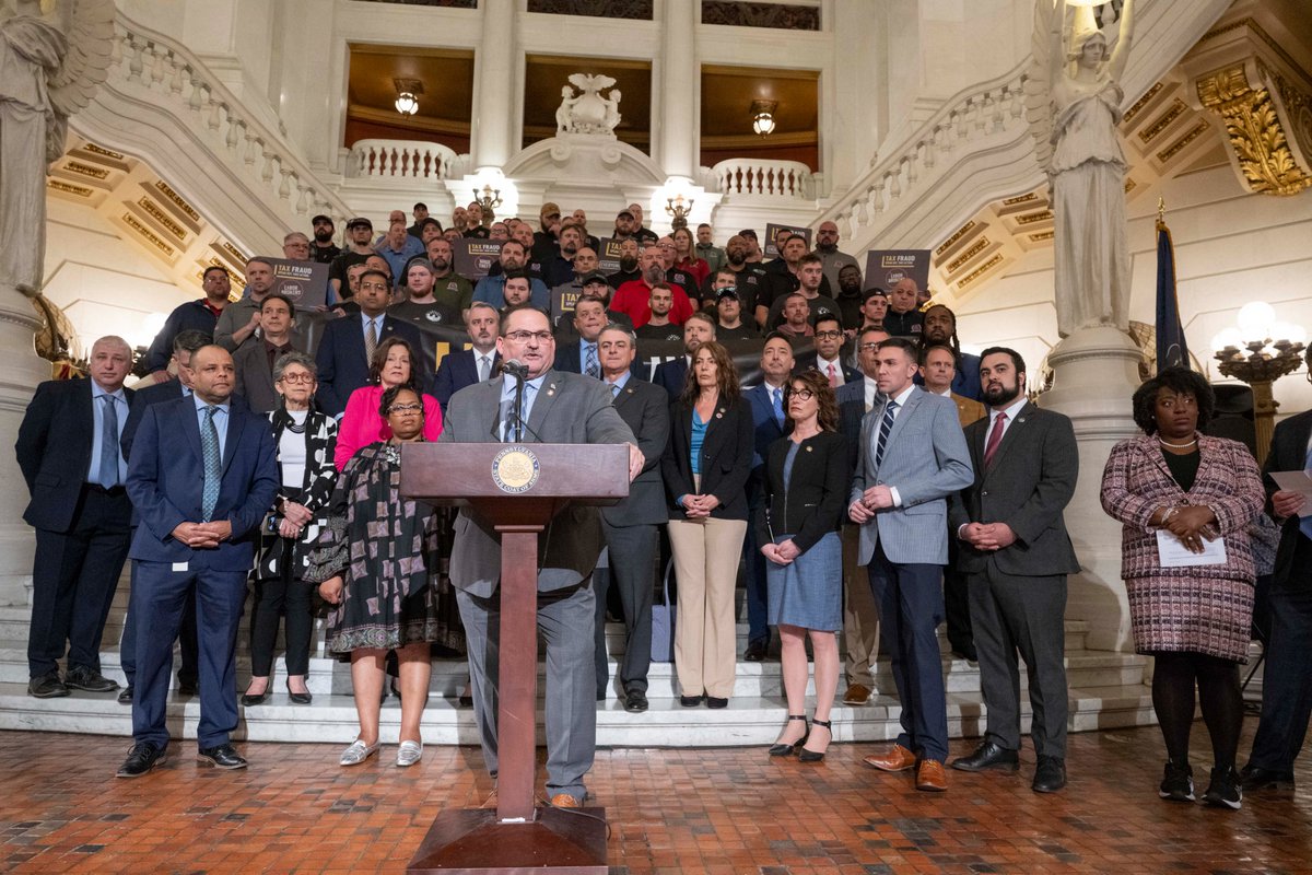
[[[698, 146], [698, 100], [701, 67], [697, 63], [697, 10], [698, 3], [666, 1], [661, 31], [660, 80], [657, 98], [659, 150], [653, 159], [665, 169], [666, 177], [695, 180], [701, 160]], [[747, 108], [744, 108], [745, 118]]]

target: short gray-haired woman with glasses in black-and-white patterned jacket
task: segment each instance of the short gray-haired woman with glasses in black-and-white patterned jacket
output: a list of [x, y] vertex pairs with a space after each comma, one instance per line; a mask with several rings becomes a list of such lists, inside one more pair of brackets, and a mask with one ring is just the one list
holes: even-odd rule
[[315, 359], [286, 353], [273, 363], [273, 388], [281, 403], [269, 413], [278, 447], [282, 488], [273, 512], [260, 529], [256, 552], [255, 602], [251, 607], [251, 683], [241, 704], [269, 698], [273, 647], [278, 618], [286, 617], [287, 695], [294, 704], [310, 704], [310, 584], [303, 577], [310, 551], [327, 525], [328, 497], [337, 480], [333, 447], [337, 422], [314, 409], [318, 388]]

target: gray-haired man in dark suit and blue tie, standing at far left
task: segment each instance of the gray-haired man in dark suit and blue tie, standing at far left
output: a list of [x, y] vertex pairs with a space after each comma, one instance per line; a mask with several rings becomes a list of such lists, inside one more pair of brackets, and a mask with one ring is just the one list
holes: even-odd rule
[[18, 426], [14, 453], [31, 495], [22, 518], [37, 530], [28, 694], [38, 699], [118, 686], [100, 673], [100, 639], [127, 558], [131, 504], [119, 436], [131, 366], [122, 337], [101, 337], [91, 348], [91, 379], [42, 383]]

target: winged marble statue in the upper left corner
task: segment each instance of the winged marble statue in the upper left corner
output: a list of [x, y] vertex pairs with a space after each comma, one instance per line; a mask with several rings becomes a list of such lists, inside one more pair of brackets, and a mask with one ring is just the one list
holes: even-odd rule
[[109, 71], [113, 0], [0, 4], [0, 286], [41, 290], [46, 168]]

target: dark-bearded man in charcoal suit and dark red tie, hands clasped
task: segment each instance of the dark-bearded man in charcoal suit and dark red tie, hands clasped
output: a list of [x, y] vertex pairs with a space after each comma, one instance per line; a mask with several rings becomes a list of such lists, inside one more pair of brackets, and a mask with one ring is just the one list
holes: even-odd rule
[[1071, 420], [1026, 401], [1015, 350], [985, 349], [980, 386], [988, 417], [966, 428], [975, 483], [953, 496], [950, 527], [967, 575], [988, 732], [953, 767], [1019, 769], [1019, 652], [1038, 754], [1033, 787], [1055, 792], [1067, 783], [1067, 575], [1080, 571], [1061, 512], [1075, 495], [1080, 451]]

